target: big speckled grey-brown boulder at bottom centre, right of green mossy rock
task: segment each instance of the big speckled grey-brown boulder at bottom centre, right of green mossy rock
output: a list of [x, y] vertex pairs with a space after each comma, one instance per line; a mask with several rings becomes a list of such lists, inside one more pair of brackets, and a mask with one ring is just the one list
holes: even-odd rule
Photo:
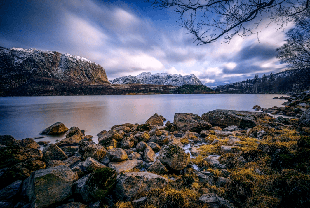
[[130, 201], [139, 194], [155, 188], [165, 188], [168, 179], [160, 175], [145, 172], [126, 172], [118, 175], [115, 195], [118, 199]]

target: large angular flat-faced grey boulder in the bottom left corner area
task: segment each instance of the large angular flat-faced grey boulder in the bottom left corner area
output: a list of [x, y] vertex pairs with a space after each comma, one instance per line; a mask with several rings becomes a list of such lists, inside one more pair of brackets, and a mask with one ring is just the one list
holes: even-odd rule
[[77, 177], [76, 172], [64, 165], [34, 171], [30, 176], [27, 192], [32, 207], [50, 206], [69, 197]]

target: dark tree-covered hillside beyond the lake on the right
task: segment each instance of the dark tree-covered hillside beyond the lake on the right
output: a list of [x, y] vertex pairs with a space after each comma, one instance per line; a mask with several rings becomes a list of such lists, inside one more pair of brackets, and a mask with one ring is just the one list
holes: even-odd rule
[[310, 69], [295, 69], [277, 74], [255, 74], [253, 79], [215, 88], [215, 93], [287, 93], [301, 92], [310, 87]]

